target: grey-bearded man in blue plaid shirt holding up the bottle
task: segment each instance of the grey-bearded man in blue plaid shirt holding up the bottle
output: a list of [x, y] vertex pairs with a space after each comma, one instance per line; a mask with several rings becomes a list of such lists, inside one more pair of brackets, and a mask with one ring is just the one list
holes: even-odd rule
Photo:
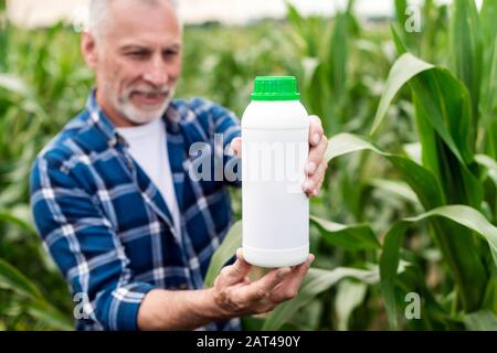
[[[96, 89], [33, 164], [36, 229], [83, 298], [80, 330], [237, 330], [294, 298], [313, 260], [251, 282], [239, 250], [203, 289], [232, 222], [229, 183], [189, 178], [188, 151], [221, 133], [240, 152], [240, 126], [210, 101], [172, 100], [181, 31], [167, 0], [93, 0], [81, 46]], [[317, 195], [327, 140], [310, 125], [305, 192]]]

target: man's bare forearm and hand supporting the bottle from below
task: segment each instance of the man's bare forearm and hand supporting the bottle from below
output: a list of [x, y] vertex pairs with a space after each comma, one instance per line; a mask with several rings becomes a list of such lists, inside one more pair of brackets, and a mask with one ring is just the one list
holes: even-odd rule
[[273, 269], [251, 282], [247, 277], [251, 265], [239, 249], [236, 261], [221, 270], [212, 288], [150, 290], [138, 311], [138, 328], [193, 330], [213, 321], [271, 311], [282, 301], [297, 296], [313, 260], [310, 254], [299, 266]]

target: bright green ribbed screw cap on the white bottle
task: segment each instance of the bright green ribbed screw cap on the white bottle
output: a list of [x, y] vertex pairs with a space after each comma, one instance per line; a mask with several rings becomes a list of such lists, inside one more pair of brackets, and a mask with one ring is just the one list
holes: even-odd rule
[[257, 76], [252, 100], [299, 100], [297, 78], [294, 76]]

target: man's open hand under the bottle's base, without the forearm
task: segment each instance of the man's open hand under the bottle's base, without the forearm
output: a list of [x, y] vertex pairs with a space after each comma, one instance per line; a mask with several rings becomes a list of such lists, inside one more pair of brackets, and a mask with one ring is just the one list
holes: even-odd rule
[[226, 266], [214, 281], [213, 297], [223, 318], [265, 313], [277, 304], [297, 296], [314, 255], [293, 268], [272, 269], [264, 277], [250, 281], [251, 265], [243, 259], [242, 249], [236, 252], [236, 261]]

